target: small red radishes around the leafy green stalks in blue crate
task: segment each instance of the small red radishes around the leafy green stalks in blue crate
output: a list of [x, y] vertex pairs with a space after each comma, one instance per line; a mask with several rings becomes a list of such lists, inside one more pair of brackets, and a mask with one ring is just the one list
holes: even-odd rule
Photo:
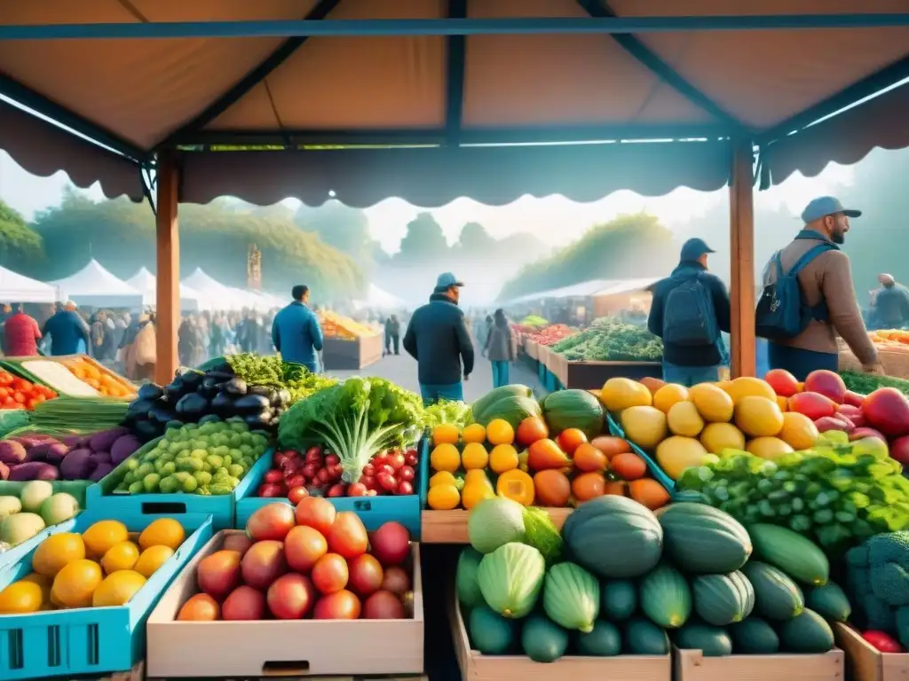
[[258, 490], [259, 497], [286, 497], [292, 504], [306, 497], [376, 497], [415, 493], [416, 449], [385, 451], [365, 465], [360, 479], [342, 479], [341, 459], [321, 447], [305, 453], [294, 449], [276, 451], [272, 469]]

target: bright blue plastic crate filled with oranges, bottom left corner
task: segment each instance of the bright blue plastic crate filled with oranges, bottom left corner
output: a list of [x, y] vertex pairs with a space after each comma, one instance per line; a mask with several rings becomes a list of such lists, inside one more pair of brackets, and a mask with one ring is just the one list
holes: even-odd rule
[[194, 514], [124, 521], [85, 512], [45, 530], [0, 571], [0, 676], [98, 678], [132, 668], [145, 651], [146, 618], [211, 536], [211, 518]]

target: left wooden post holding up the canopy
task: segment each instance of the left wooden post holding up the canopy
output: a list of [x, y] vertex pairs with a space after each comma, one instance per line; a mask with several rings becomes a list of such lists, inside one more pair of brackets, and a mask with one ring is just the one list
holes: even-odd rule
[[180, 235], [177, 229], [179, 169], [172, 153], [161, 153], [157, 166], [157, 363], [155, 382], [166, 385], [179, 366]]

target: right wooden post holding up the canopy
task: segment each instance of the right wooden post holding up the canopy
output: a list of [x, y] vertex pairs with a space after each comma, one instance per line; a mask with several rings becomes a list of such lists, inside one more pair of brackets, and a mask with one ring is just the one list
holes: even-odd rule
[[732, 376], [754, 376], [754, 151], [748, 140], [734, 143], [729, 186], [732, 251]]

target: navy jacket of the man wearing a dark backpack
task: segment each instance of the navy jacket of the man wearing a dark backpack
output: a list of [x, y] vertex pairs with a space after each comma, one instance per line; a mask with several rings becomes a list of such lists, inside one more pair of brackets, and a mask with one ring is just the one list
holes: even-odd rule
[[[683, 261], [679, 262], [672, 274], [657, 281], [654, 286], [654, 301], [650, 307], [650, 317], [647, 319], [647, 329], [654, 336], [663, 338], [663, 313], [669, 292], [699, 272], [705, 273], [704, 284], [714, 299], [716, 325], [720, 331], [729, 333], [729, 291], [726, 291], [723, 280], [707, 272], [700, 262]], [[680, 347], [664, 343], [663, 360], [679, 367], [713, 367], [722, 362], [723, 355], [718, 345]]]

